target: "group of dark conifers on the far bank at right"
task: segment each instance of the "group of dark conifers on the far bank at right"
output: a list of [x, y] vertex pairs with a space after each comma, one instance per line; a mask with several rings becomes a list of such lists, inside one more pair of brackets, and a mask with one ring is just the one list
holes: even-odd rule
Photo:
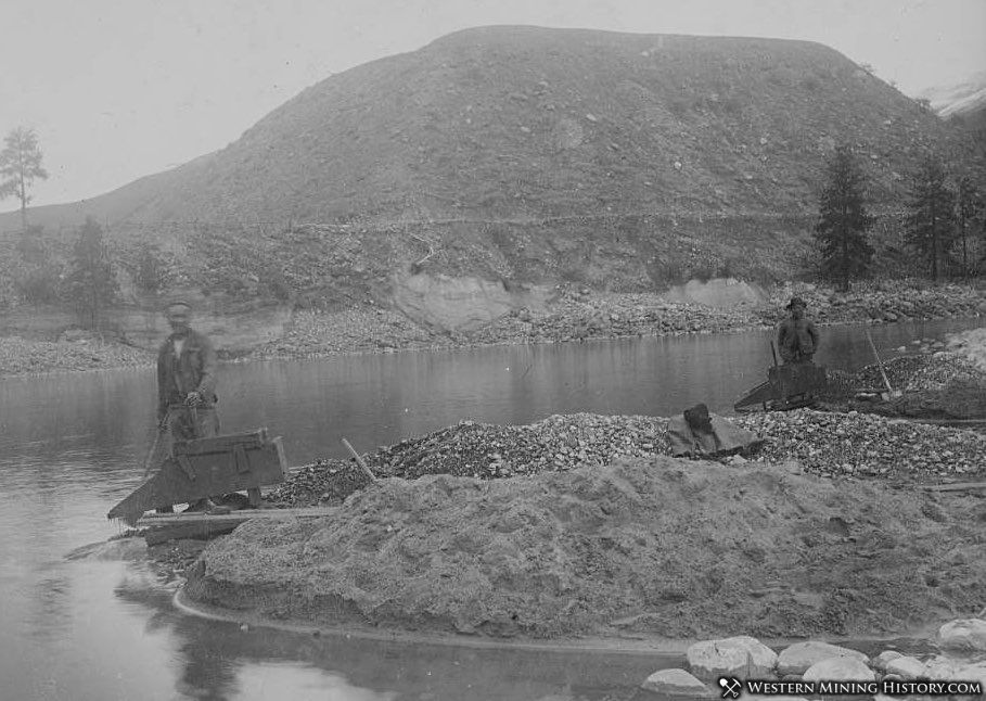
[[[945, 162], [926, 155], [911, 177], [905, 205], [905, 241], [932, 281], [949, 271], [969, 279], [986, 267], [984, 199], [971, 176], [950, 181]], [[838, 145], [827, 164], [815, 238], [819, 272], [843, 291], [873, 266], [874, 220], [867, 211], [860, 160], [848, 145]]]

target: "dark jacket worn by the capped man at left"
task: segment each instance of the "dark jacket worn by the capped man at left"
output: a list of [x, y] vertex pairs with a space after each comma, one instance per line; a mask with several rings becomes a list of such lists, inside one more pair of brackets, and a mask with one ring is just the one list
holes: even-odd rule
[[197, 331], [189, 331], [175, 357], [175, 334], [157, 349], [157, 418], [163, 419], [168, 405], [182, 404], [190, 392], [197, 392], [206, 406], [216, 402], [216, 351]]

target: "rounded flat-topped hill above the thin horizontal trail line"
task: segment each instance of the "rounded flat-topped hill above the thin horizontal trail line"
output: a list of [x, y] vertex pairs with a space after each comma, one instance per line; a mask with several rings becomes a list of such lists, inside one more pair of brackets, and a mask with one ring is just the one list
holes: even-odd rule
[[132, 221], [525, 218], [812, 208], [837, 142], [876, 202], [930, 111], [824, 46], [496, 26], [331, 76], [226, 149], [85, 203]]

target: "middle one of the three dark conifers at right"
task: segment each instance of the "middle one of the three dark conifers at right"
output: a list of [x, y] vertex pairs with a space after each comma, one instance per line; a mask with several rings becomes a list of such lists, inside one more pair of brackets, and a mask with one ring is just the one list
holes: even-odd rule
[[907, 215], [907, 241], [938, 280], [955, 238], [955, 193], [940, 158], [927, 156], [914, 176]]

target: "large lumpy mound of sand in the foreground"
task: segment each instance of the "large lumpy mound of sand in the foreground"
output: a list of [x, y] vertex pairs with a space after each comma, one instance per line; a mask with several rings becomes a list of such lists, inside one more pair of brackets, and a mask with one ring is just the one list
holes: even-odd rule
[[902, 633], [986, 601], [986, 505], [772, 466], [618, 460], [387, 479], [319, 520], [247, 522], [194, 601], [490, 636]]

